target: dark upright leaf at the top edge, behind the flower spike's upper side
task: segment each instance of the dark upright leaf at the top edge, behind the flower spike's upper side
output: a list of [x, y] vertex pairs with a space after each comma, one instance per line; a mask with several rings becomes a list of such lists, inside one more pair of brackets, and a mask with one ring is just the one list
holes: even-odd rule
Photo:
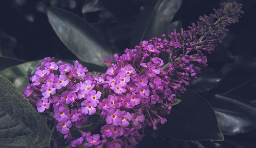
[[142, 40], [161, 37], [162, 34], [181, 28], [181, 21], [170, 23], [179, 10], [182, 0], [148, 0], [141, 11], [131, 41], [131, 48], [139, 45]]

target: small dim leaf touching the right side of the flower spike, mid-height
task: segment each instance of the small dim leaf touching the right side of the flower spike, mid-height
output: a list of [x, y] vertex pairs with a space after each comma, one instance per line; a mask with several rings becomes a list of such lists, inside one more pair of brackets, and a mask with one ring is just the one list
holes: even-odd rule
[[206, 92], [218, 86], [220, 80], [221, 75], [212, 68], [206, 68], [202, 70], [197, 79], [191, 81], [189, 88], [195, 92]]

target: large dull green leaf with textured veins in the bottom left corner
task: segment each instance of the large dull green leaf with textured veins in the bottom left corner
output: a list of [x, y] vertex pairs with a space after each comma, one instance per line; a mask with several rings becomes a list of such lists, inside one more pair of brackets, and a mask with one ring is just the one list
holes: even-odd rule
[[3, 75], [0, 75], [0, 102], [1, 145], [49, 147], [51, 130], [48, 125]]

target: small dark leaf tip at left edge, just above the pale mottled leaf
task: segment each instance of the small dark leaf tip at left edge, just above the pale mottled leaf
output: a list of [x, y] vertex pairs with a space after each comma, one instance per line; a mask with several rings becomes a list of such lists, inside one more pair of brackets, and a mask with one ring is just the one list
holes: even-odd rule
[[4, 70], [8, 67], [14, 66], [14, 65], [19, 65], [22, 63], [25, 63], [26, 61], [24, 60], [19, 60], [17, 58], [13, 57], [5, 57], [5, 56], [0, 56], [0, 71]]

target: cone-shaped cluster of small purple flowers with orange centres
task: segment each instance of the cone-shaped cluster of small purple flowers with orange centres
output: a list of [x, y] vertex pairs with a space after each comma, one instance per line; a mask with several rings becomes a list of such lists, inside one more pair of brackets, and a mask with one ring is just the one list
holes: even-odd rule
[[[108, 70], [96, 77], [77, 61], [53, 62], [47, 57], [36, 68], [24, 91], [25, 97], [38, 112], [47, 110], [57, 121], [56, 129], [73, 147], [134, 147], [143, 137], [146, 126], [157, 130], [164, 124], [172, 104], [207, 66], [205, 53], [214, 50], [226, 36], [226, 25], [236, 23], [241, 11], [237, 3], [222, 4], [215, 14], [200, 17], [188, 31], [168, 35], [166, 39], [142, 41], [134, 49], [115, 54], [114, 61], [105, 58]], [[98, 123], [90, 123], [97, 114]], [[100, 133], [83, 126], [101, 126]], [[80, 132], [73, 137], [71, 129]], [[100, 134], [100, 135], [99, 135]]]

